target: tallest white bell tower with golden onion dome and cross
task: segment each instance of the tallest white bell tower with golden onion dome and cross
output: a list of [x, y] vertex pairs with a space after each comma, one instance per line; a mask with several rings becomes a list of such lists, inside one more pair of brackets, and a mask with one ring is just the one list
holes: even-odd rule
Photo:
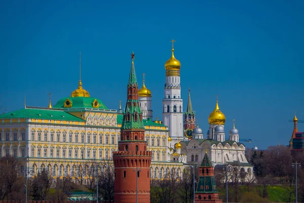
[[182, 98], [180, 88], [180, 62], [174, 57], [172, 42], [172, 55], [165, 63], [166, 82], [165, 97], [163, 98], [163, 122], [170, 130], [172, 141], [177, 142], [179, 137], [183, 137], [182, 123]]

